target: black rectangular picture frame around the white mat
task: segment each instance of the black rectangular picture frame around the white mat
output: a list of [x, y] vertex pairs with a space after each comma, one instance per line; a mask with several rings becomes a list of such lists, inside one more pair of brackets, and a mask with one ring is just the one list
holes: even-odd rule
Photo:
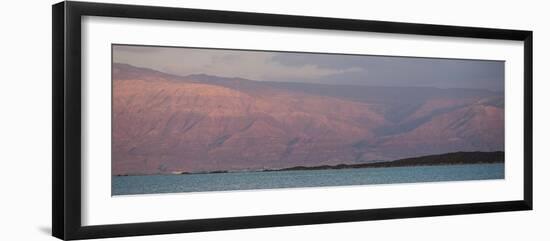
[[[174, 220], [99, 226], [81, 224], [81, 17], [104, 16], [136, 19], [282, 26], [328, 30], [517, 40], [524, 43], [524, 183], [523, 199], [456, 205], [415, 206], [282, 215]], [[307, 225], [380, 219], [531, 210], [533, 33], [415, 23], [336, 19], [277, 14], [150, 7], [90, 2], [60, 2], [52, 6], [53, 79], [53, 195], [52, 233], [60, 239], [88, 239], [213, 230]], [[107, 61], [107, 60], [106, 60]]]

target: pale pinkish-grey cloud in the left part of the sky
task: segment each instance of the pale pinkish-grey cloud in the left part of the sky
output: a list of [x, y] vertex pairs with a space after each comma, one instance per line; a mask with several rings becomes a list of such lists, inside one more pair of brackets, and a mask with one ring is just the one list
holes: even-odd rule
[[254, 80], [312, 80], [357, 71], [315, 64], [287, 65], [274, 61], [277, 53], [220, 49], [115, 46], [113, 60], [177, 75], [210, 74]]

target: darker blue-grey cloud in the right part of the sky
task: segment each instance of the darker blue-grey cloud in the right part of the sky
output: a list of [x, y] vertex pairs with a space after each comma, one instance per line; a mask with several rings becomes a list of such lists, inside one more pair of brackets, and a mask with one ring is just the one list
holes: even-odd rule
[[351, 67], [357, 71], [321, 77], [323, 83], [378, 86], [431, 86], [502, 91], [504, 62], [337, 54], [279, 54], [274, 61], [287, 66]]

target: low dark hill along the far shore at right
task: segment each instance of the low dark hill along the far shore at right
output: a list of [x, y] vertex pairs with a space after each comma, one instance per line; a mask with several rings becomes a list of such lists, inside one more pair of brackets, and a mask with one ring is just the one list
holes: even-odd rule
[[325, 169], [348, 169], [348, 168], [376, 168], [376, 167], [404, 167], [404, 166], [437, 166], [437, 165], [460, 165], [460, 164], [481, 164], [481, 163], [504, 163], [504, 152], [454, 152], [440, 155], [429, 155], [413, 158], [399, 159], [364, 164], [340, 164], [323, 166], [296, 166], [277, 170], [265, 171], [292, 171], [292, 170], [325, 170]]

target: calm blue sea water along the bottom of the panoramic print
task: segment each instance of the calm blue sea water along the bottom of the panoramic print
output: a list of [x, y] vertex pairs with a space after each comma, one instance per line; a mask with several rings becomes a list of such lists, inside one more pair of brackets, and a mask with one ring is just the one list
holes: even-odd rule
[[503, 179], [504, 164], [113, 176], [112, 195]]

